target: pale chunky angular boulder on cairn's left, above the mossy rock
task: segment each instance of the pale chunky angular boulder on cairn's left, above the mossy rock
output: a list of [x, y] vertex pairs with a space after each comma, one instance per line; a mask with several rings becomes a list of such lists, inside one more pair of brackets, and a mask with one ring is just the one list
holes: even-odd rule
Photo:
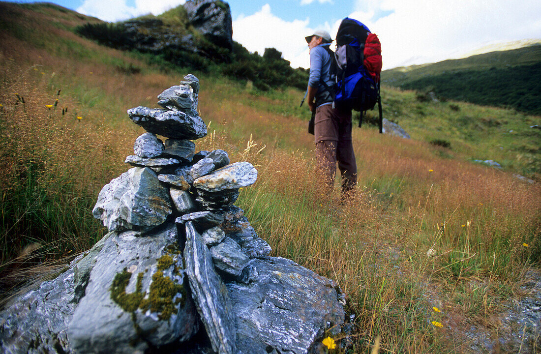
[[172, 212], [169, 191], [149, 168], [136, 167], [103, 186], [93, 215], [113, 230], [150, 230]]

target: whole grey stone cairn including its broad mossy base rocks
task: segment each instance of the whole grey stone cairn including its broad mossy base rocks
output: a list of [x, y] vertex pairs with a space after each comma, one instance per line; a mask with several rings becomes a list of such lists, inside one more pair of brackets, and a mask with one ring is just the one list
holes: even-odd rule
[[340, 331], [338, 286], [269, 257], [233, 205], [254, 166], [195, 153], [207, 134], [198, 94], [187, 75], [158, 96], [163, 109], [128, 110], [147, 132], [126, 158], [134, 167], [98, 195], [93, 214], [110, 232], [0, 312], [3, 352], [304, 354]]

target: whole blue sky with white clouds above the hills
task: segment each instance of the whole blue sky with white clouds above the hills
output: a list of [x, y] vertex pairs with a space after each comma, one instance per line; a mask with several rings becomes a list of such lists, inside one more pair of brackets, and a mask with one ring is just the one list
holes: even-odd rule
[[[48, 0], [108, 22], [159, 15], [186, 0]], [[16, 1], [29, 2], [29, 1]], [[459, 58], [483, 46], [541, 39], [539, 0], [230, 0], [233, 39], [250, 52], [276, 48], [309, 68], [304, 39], [337, 33], [345, 17], [378, 35], [384, 69]], [[333, 46], [331, 47], [333, 48]]]

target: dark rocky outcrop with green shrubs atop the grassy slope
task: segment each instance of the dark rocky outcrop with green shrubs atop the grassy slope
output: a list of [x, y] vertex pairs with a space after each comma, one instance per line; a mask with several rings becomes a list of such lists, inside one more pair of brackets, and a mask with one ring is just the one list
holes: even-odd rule
[[[187, 7], [188, 6], [188, 7]], [[161, 66], [192, 70], [251, 82], [260, 90], [280, 86], [306, 88], [308, 73], [293, 69], [280, 51], [266, 48], [250, 53], [233, 41], [229, 5], [214, 0], [206, 10], [187, 9], [186, 3], [161, 15], [146, 15], [118, 23], [91, 22], [75, 28], [77, 34], [100, 44], [148, 54]], [[191, 16], [191, 17], [190, 17]]]

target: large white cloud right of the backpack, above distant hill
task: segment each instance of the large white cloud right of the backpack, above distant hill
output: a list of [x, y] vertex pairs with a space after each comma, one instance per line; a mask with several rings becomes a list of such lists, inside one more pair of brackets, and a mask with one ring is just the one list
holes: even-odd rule
[[[537, 0], [363, 0], [359, 19], [378, 34], [384, 69], [460, 57], [495, 41], [541, 38]], [[374, 18], [379, 10], [393, 13]]]

